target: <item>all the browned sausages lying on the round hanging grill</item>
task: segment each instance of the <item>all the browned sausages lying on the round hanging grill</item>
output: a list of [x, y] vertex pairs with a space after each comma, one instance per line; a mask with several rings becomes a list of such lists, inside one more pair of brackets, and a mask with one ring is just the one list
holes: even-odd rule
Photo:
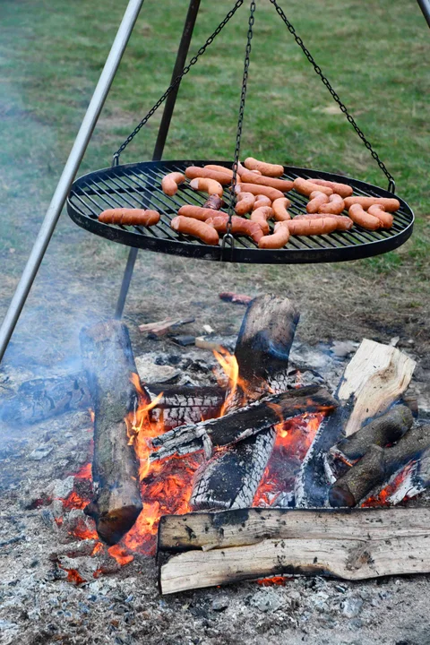
[[[281, 179], [284, 168], [248, 157], [244, 165], [238, 164], [236, 183], [236, 215], [232, 217], [231, 233], [250, 236], [262, 249], [277, 249], [288, 244], [290, 236], [312, 236], [349, 230], [354, 224], [376, 230], [391, 228], [391, 213], [400, 209], [397, 199], [383, 197], [358, 197], [350, 185], [324, 179], [294, 181]], [[203, 206], [185, 204], [170, 226], [178, 233], [197, 237], [208, 245], [219, 244], [219, 234], [227, 232], [228, 214], [220, 209], [225, 205], [224, 189], [231, 185], [233, 171], [224, 166], [208, 165], [204, 168], [190, 166], [185, 174], [172, 172], [164, 176], [161, 188], [169, 196], [176, 194], [178, 186], [189, 180], [189, 185], [209, 199]], [[285, 193], [296, 190], [309, 198], [306, 212], [291, 218], [291, 202]], [[348, 216], [341, 215], [348, 211]], [[248, 216], [248, 217], [246, 217]], [[271, 233], [268, 220], [274, 219]], [[157, 211], [140, 209], [112, 209], [103, 211], [99, 221], [114, 224], [152, 226], [159, 222]]]

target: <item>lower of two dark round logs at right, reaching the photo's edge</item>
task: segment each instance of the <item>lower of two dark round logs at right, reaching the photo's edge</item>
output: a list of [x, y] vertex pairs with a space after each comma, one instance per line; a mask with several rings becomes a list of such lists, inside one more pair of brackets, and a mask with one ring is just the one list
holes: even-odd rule
[[401, 466], [417, 459], [428, 448], [430, 425], [412, 428], [391, 448], [372, 445], [365, 456], [331, 486], [331, 506], [356, 506], [375, 486], [382, 485]]

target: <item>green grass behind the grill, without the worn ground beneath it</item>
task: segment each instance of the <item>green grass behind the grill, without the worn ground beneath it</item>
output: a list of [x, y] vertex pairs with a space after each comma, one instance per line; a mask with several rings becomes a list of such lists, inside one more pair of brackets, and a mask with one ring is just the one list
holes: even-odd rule
[[[280, 4], [395, 177], [398, 193], [417, 214], [415, 235], [398, 251], [331, 267], [330, 275], [340, 282], [359, 276], [375, 288], [382, 279], [407, 275], [405, 301], [413, 302], [414, 297], [426, 301], [430, 295], [426, 22], [417, 4], [404, 0], [280, 0]], [[187, 5], [188, 0], [145, 0], [82, 172], [109, 165], [112, 153], [168, 86]], [[233, 0], [203, 0], [190, 54], [232, 5]], [[34, 232], [43, 216], [125, 6], [124, 0], [1, 4], [0, 258], [7, 260], [12, 276], [19, 274], [29, 252], [29, 230]], [[167, 159], [232, 158], [246, 28], [244, 6], [186, 76], [168, 136]], [[368, 150], [333, 107], [329, 92], [272, 5], [259, 0], [242, 158], [251, 154], [385, 186], [385, 176]], [[150, 159], [160, 112], [125, 150], [124, 162]], [[112, 265], [122, 266], [123, 247], [82, 237], [63, 221], [47, 262], [68, 259], [77, 270], [80, 262], [89, 265], [95, 249], [102, 249]], [[96, 271], [99, 265], [93, 262]], [[235, 271], [237, 276], [255, 275], [253, 268]], [[271, 282], [282, 281], [285, 275], [284, 268], [258, 271]], [[307, 276], [309, 282], [318, 271], [302, 267], [288, 269], [288, 274]]]

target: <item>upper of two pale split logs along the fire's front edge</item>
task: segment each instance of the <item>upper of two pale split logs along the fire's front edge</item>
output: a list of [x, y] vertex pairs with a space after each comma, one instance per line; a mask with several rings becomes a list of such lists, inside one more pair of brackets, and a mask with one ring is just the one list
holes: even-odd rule
[[165, 515], [159, 522], [158, 551], [229, 548], [263, 539], [383, 540], [428, 534], [430, 509], [262, 509]]

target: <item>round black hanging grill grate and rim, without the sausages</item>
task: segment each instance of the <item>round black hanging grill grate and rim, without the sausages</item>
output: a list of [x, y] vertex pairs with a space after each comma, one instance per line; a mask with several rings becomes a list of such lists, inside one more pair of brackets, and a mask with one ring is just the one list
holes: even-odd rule
[[[396, 197], [400, 201], [400, 211], [397, 211], [397, 221], [395, 222], [395, 226], [400, 227], [400, 230], [398, 232], [392, 232], [392, 229], [391, 231], [380, 230], [377, 232], [379, 237], [373, 239], [373, 237], [375, 237], [374, 232], [366, 231], [365, 229], [355, 225], [354, 230], [348, 232], [348, 235], [353, 235], [358, 240], [357, 244], [351, 244], [350, 239], [347, 239], [343, 232], [338, 231], [325, 236], [299, 236], [296, 240], [296, 244], [298, 245], [296, 248], [294, 248], [295, 240], [294, 236], [292, 236], [291, 242], [293, 247], [288, 244], [287, 248], [273, 250], [259, 249], [252, 241], [248, 240], [246, 237], [240, 236], [236, 240], [235, 248], [233, 250], [227, 248], [225, 253], [226, 257], [221, 258], [222, 249], [220, 245], [204, 245], [199, 240], [191, 238], [187, 239], [185, 236], [182, 236], [182, 239], [180, 239], [176, 233], [170, 231], [167, 217], [169, 208], [170, 211], [174, 211], [176, 214], [176, 209], [173, 204], [171, 207], [167, 205], [166, 210], [158, 209], [161, 212], [162, 220], [160, 220], [160, 223], [156, 227], [142, 229], [139, 227], [124, 228], [111, 224], [103, 224], [95, 219], [95, 216], [90, 217], [90, 215], [85, 214], [82, 207], [80, 209], [78, 204], [73, 202], [73, 200], [78, 203], [84, 202], [80, 195], [80, 193], [84, 192], [84, 188], [92, 188], [92, 193], [86, 193], [87, 198], [90, 195], [90, 200], [91, 195], [95, 194], [99, 196], [98, 193], [101, 193], [101, 199], [107, 201], [106, 194], [109, 195], [109, 193], [107, 193], [109, 190], [109, 180], [114, 181], [116, 185], [123, 184], [125, 186], [124, 191], [121, 191], [120, 193], [117, 193], [118, 189], [113, 191], [112, 195], [114, 201], [117, 200], [118, 194], [132, 194], [130, 191], [127, 193], [126, 190], [126, 185], [129, 181], [131, 181], [136, 187], [134, 195], [142, 194], [144, 196], [145, 191], [154, 193], [153, 187], [148, 188], [144, 186], [145, 180], [147, 181], [148, 179], [150, 179], [153, 185], [157, 184], [155, 194], [156, 199], [159, 202], [168, 202], [169, 200], [171, 201], [172, 198], [169, 198], [167, 195], [162, 193], [159, 185], [159, 177], [157, 177], [158, 172], [163, 174], [174, 170], [184, 172], [187, 166], [204, 166], [207, 164], [216, 164], [226, 168], [231, 167], [231, 162], [227, 161], [173, 159], [134, 162], [91, 171], [80, 176], [73, 182], [71, 191], [67, 197], [68, 215], [74, 223], [81, 228], [118, 244], [142, 248], [156, 253], [175, 254], [185, 257], [216, 261], [223, 259], [226, 262], [254, 264], [348, 262], [392, 251], [400, 245], [403, 245], [412, 235], [415, 221], [414, 213], [409, 204], [402, 200], [398, 195], [394, 195], [379, 186], [369, 184], [368, 182], [364, 182], [353, 177], [343, 176], [323, 170], [316, 170], [314, 168], [300, 168], [296, 166], [285, 166], [284, 178], [294, 178], [294, 176], [304, 176], [305, 178], [318, 177], [328, 179], [329, 181], [348, 183], [354, 188], [355, 193], [363, 193], [368, 196], [375, 197]], [[133, 170], [137, 170], [137, 173], [134, 173]], [[140, 170], [143, 172], [139, 173]], [[145, 170], [148, 171], [148, 174], [144, 172]], [[123, 176], [126, 181], [122, 180]], [[100, 182], [103, 182], [103, 185], [100, 186]], [[185, 187], [181, 190], [179, 195], [185, 196], [185, 194], [190, 197], [193, 196], [195, 203], [202, 204], [202, 195], [200, 193], [192, 194], [192, 190]], [[287, 194], [290, 196], [289, 193]], [[298, 205], [300, 203], [303, 205], [306, 202], [305, 196], [299, 195], [296, 192], [291, 194], [296, 199], [296, 202], [298, 202]], [[135, 196], [131, 197], [131, 199], [136, 201]], [[97, 204], [95, 200], [93, 200], [93, 202], [96, 204], [96, 210], [99, 210], [99, 204]], [[126, 203], [121, 205], [126, 206]], [[85, 207], [87, 211], [90, 211], [90, 208], [86, 203]], [[113, 207], [115, 207], [115, 205], [106, 205], [106, 208]], [[154, 205], [151, 207], [155, 208]], [[294, 212], [295, 209], [297, 210], [296, 204], [292, 206], [291, 210]], [[170, 214], [173, 216], [174, 212], [171, 212]], [[133, 228], [133, 230], [130, 230], [131, 228]], [[158, 236], [160, 233], [162, 236]], [[362, 242], [362, 239], [367, 241]], [[237, 242], [240, 245], [237, 245]], [[303, 245], [305, 245], [305, 248], [303, 248]]]

